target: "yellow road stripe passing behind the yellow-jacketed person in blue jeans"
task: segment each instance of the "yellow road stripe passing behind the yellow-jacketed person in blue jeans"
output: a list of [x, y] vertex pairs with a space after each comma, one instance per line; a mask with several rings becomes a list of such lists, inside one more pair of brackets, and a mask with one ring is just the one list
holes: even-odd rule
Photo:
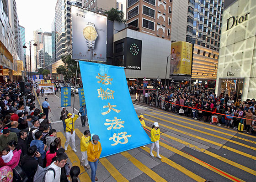
[[[82, 132], [78, 128], [75, 128], [75, 133], [80, 139], [83, 136]], [[112, 163], [107, 160], [106, 157], [100, 158], [100, 162], [111, 174], [111, 176], [117, 180], [117, 182], [128, 182], [128, 180], [123, 177], [123, 175], [112, 165]]]

